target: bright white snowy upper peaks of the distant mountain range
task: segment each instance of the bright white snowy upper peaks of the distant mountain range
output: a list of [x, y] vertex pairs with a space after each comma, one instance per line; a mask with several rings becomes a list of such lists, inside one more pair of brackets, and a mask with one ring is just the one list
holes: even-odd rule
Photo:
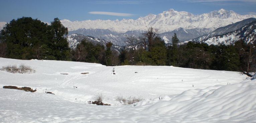
[[85, 20], [71, 22], [67, 19], [61, 23], [68, 27], [69, 31], [85, 29], [109, 29], [118, 33], [125, 33], [133, 30], [147, 30], [148, 27], [159, 29], [159, 33], [169, 32], [177, 28], [194, 29], [210, 28], [217, 29], [256, 15], [239, 15], [234, 11], [220, 9], [201, 15], [194, 15], [188, 12], [178, 12], [173, 9], [164, 11], [158, 15], [149, 14], [137, 20]]

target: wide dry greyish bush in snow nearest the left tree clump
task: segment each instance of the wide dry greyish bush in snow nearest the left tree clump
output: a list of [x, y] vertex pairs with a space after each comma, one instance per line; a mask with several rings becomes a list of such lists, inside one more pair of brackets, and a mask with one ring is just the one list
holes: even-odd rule
[[11, 72], [11, 73], [34, 73], [35, 70], [33, 70], [30, 66], [26, 66], [24, 64], [21, 64], [19, 67], [16, 65], [8, 65], [5, 67], [2, 67], [0, 70]]

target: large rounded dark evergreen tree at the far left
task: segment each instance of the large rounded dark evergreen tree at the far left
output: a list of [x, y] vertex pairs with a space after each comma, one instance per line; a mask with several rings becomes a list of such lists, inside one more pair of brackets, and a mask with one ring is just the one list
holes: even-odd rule
[[33, 59], [35, 53], [32, 49], [45, 43], [47, 36], [47, 24], [22, 17], [6, 24], [1, 31], [0, 41], [6, 44], [6, 58]]

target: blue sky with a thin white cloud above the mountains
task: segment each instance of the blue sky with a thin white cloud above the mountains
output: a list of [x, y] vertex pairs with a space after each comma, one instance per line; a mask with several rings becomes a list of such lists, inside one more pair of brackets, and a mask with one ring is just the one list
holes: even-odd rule
[[71, 21], [135, 20], [168, 9], [195, 15], [219, 9], [256, 14], [256, 0], [0, 0], [0, 22], [23, 16], [43, 22], [55, 17]]

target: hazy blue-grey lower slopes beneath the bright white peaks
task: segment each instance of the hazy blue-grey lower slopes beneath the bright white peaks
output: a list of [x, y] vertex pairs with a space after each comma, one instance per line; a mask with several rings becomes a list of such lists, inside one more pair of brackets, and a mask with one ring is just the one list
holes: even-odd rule
[[[197, 38], [202, 35], [206, 35], [211, 31], [212, 30], [207, 28], [195, 28], [195, 29], [189, 29], [189, 30], [185, 30], [184, 28], [178, 28], [170, 32], [161, 33], [159, 34], [159, 36], [165, 40], [165, 43], [171, 43], [171, 38], [174, 35], [174, 33], [176, 33], [179, 38], [179, 41], [183, 42], [189, 39]], [[109, 29], [78, 29], [78, 30], [69, 32], [70, 35], [81, 34], [81, 35], [89, 35], [89, 36], [97, 37], [100, 39], [104, 39], [106, 41], [110, 41], [113, 44], [118, 46], [129, 45], [127, 43], [127, 37], [129, 36], [141, 37], [142, 33], [145, 33], [145, 31], [134, 30], [134, 31], [127, 31], [125, 33], [117, 33]]]

